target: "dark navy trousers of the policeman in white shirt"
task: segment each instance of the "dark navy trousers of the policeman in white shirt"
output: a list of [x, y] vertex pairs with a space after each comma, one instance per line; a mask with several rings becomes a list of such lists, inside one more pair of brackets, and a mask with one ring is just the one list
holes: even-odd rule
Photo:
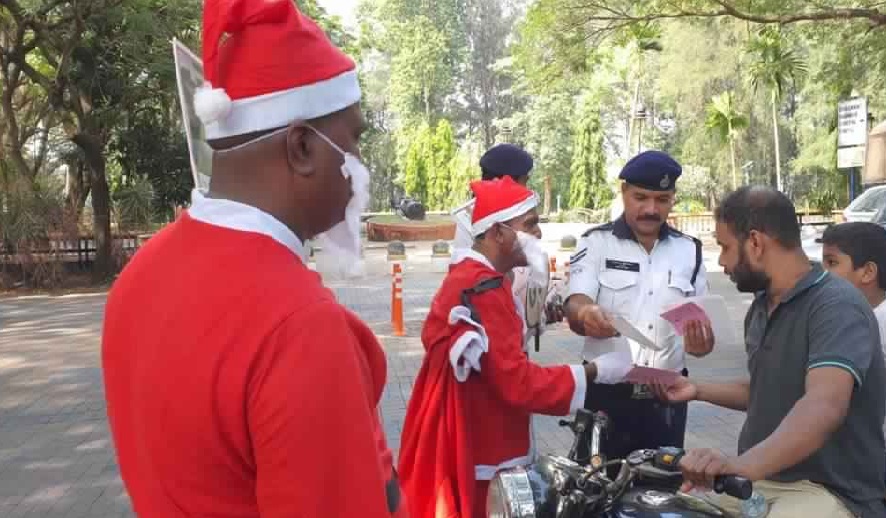
[[[684, 375], [686, 372], [684, 371]], [[669, 405], [654, 398], [638, 399], [629, 384], [588, 384], [585, 408], [609, 416], [609, 430], [603, 439], [602, 454], [607, 459], [623, 459], [641, 449], [662, 446], [683, 447], [688, 405]], [[580, 445], [578, 458], [589, 457], [588, 446]]]

